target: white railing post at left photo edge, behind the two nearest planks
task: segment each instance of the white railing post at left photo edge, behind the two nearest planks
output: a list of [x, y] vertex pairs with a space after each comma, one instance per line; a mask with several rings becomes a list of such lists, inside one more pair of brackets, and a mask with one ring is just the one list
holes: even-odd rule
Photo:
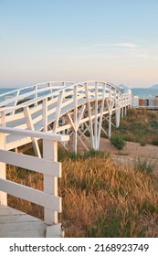
[[[0, 149], [5, 149], [5, 134], [0, 133]], [[6, 179], [6, 164], [0, 162], [0, 178]], [[7, 206], [7, 195], [0, 191], [0, 205]]]

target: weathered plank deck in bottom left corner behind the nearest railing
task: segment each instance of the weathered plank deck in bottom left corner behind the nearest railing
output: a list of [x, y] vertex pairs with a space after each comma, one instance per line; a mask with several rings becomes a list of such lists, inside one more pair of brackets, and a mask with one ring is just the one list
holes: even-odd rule
[[0, 205], [0, 238], [45, 238], [46, 229], [42, 220]]

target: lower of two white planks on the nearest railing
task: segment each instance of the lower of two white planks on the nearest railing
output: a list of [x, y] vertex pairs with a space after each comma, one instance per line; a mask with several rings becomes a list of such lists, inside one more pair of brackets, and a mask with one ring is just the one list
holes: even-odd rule
[[32, 187], [22, 186], [15, 182], [0, 178], [1, 190], [14, 197], [23, 198], [39, 206], [61, 212], [61, 198], [52, 196]]

